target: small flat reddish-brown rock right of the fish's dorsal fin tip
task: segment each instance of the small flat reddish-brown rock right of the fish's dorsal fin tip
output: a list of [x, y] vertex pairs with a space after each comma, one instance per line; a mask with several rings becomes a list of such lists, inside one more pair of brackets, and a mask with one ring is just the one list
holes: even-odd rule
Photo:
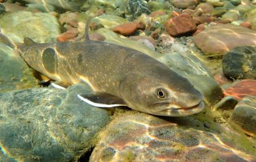
[[127, 36], [131, 35], [132, 33], [137, 30], [137, 24], [135, 23], [124, 23], [119, 26], [112, 28], [113, 32], [119, 33], [121, 35]]

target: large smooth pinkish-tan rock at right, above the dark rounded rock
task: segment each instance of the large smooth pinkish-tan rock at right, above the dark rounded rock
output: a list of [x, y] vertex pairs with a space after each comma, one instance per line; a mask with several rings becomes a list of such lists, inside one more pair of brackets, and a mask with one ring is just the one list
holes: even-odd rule
[[205, 55], [223, 55], [236, 46], [256, 46], [256, 31], [233, 24], [209, 26], [194, 35], [194, 41]]

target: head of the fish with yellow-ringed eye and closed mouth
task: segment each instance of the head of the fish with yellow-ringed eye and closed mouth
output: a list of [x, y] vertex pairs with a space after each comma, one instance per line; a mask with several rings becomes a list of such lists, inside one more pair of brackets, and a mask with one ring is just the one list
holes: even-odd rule
[[205, 107], [203, 94], [170, 69], [131, 76], [126, 78], [122, 98], [134, 110], [159, 116], [188, 116]]

